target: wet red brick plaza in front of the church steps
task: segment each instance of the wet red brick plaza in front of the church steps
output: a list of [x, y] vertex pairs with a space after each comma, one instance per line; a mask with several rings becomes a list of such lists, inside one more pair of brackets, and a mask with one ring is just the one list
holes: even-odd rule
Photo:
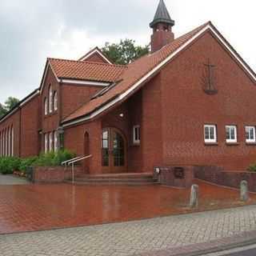
[[[195, 181], [198, 211], [243, 206], [239, 191]], [[126, 222], [190, 212], [190, 190], [166, 186], [0, 186], [0, 234]], [[249, 204], [256, 202], [250, 194]]]

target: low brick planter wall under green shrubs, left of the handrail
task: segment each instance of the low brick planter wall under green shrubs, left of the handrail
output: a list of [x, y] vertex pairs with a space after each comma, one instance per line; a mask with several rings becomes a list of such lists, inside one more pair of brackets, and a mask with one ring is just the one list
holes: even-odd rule
[[[80, 166], [74, 167], [74, 177], [79, 177], [84, 174], [84, 171]], [[72, 178], [71, 168], [65, 170], [62, 166], [46, 167], [39, 166], [34, 167], [33, 170], [33, 182], [35, 183], [59, 183], [64, 182], [67, 179]]]

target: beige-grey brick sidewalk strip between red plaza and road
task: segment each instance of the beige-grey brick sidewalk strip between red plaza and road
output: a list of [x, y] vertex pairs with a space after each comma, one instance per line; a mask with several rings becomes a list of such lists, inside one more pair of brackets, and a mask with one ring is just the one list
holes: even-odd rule
[[[162, 254], [161, 250], [210, 242], [250, 230], [256, 230], [256, 206], [100, 226], [0, 235], [0, 254], [167, 255]], [[154, 251], [158, 253], [152, 254]]]

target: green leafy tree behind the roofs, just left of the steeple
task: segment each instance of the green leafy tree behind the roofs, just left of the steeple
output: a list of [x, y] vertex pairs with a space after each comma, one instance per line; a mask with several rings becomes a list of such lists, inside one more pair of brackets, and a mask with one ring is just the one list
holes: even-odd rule
[[149, 46], [135, 46], [132, 39], [121, 40], [119, 43], [106, 42], [102, 47], [103, 54], [112, 62], [119, 65], [127, 65], [135, 59], [142, 57], [150, 52]]

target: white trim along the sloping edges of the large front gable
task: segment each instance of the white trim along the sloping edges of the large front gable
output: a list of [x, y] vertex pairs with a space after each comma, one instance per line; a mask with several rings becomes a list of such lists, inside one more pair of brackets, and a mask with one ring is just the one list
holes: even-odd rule
[[91, 118], [96, 117], [98, 114], [101, 114], [103, 111], [105, 111], [108, 108], [110, 108], [110, 106], [113, 106], [115, 103], [117, 103], [119, 101], [122, 101], [123, 98], [126, 98], [126, 96], [129, 95], [133, 90], [135, 90], [138, 86], [140, 86], [143, 82], [145, 82], [148, 78], [150, 78], [150, 76], [152, 76], [158, 70], [160, 70], [162, 68], [162, 66], [165, 66], [167, 62], [170, 62], [170, 60], [172, 58], [174, 58], [179, 52], [184, 50], [186, 48], [186, 46], [189, 46], [190, 43], [194, 42], [194, 40], [196, 40], [199, 36], [201, 36], [206, 30], [210, 30], [210, 31], [212, 31], [214, 33], [214, 35], [216, 35], [216, 37], [222, 42], [222, 44], [224, 46], [226, 46], [227, 50], [230, 51], [230, 53], [234, 56], [234, 58], [236, 58], [238, 60], [238, 62], [250, 74], [250, 76], [252, 78], [254, 78], [254, 81], [256, 82], [255, 75], [247, 68], [245, 62], [243, 62], [242, 59], [238, 57], [238, 54], [236, 54], [234, 52], [234, 50], [232, 50], [230, 48], [230, 46], [228, 46], [226, 44], [226, 42], [223, 41], [223, 39], [218, 35], [218, 33], [214, 30], [214, 28], [209, 24], [209, 25], [205, 26], [204, 28], [202, 28], [202, 30], [198, 31], [198, 33], [195, 34], [194, 37], [190, 38], [186, 43], [184, 43], [177, 50], [175, 50], [174, 53], [170, 54], [167, 58], [165, 58], [161, 63], [158, 64], [158, 66], [155, 66], [153, 70], [151, 70], [149, 73], [147, 73], [144, 77], [142, 77], [138, 82], [136, 82], [133, 86], [131, 86], [128, 90], [126, 90], [123, 94], [120, 94], [118, 96], [118, 98], [115, 98], [113, 101], [107, 103], [105, 106], [102, 106], [102, 108], [100, 108], [98, 110], [95, 110], [92, 114], [89, 114], [88, 116], [86, 116], [84, 118], [79, 118], [79, 119], [77, 119], [77, 120], [75, 120], [73, 122], [72, 121], [67, 122], [63, 126], [64, 127], [72, 126], [72, 125], [75, 125], [75, 124], [77, 124], [79, 122], [85, 122], [87, 120], [90, 120]]

